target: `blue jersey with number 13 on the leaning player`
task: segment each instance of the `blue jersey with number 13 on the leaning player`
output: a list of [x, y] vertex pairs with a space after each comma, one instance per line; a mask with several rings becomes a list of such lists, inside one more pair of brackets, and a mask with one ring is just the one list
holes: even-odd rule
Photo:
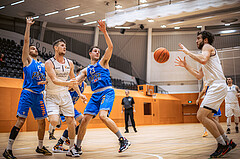
[[95, 65], [88, 65], [87, 79], [90, 82], [92, 91], [112, 86], [109, 69], [103, 68], [99, 62]]

